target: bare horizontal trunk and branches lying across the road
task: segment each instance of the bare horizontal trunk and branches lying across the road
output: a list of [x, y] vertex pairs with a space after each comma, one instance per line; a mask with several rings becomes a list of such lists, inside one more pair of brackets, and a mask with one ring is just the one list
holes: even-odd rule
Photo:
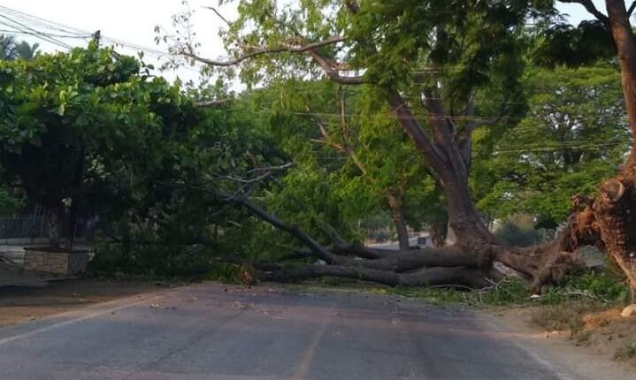
[[[259, 181], [266, 179], [265, 174], [259, 176]], [[249, 179], [241, 179], [241, 183], [245, 181]], [[172, 186], [193, 187], [185, 184]], [[311, 262], [320, 259], [325, 262], [289, 269], [280, 265], [280, 262], [249, 262], [240, 255], [216, 257], [222, 262], [253, 266], [259, 277], [267, 280], [294, 281], [330, 276], [355, 278], [385, 285], [482, 287], [509, 274], [502, 270], [502, 267], [510, 267], [517, 276], [525, 278], [533, 288], [539, 290], [542, 285], [561, 279], [567, 271], [579, 268], [579, 257], [574, 253], [579, 245], [602, 244], [595, 233], [589, 232], [586, 224], [581, 224], [581, 216], [589, 212], [590, 206], [585, 205], [585, 209], [576, 214], [578, 217], [571, 217], [571, 224], [560, 233], [558, 239], [540, 247], [505, 247], [493, 239], [481, 249], [456, 244], [436, 248], [388, 250], [350, 244], [337, 236], [333, 244], [325, 247], [297, 225], [288, 224], [250, 200], [249, 190], [220, 194], [211, 187], [194, 188], [212, 194], [216, 202], [241, 206], [255, 217], [302, 242], [305, 249], [295, 250], [288, 258], [310, 259]]]

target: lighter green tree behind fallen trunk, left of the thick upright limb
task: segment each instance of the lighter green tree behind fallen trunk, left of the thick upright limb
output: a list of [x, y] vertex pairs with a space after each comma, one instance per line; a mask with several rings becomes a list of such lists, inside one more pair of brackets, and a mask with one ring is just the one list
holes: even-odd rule
[[[304, 196], [296, 194], [305, 198], [303, 207], [298, 208], [286, 196], [301, 189], [280, 189], [277, 212], [284, 204], [295, 210], [280, 215], [296, 220], [300, 214], [325, 216], [326, 209], [334, 209], [329, 214], [340, 222], [330, 222], [344, 233], [348, 227], [343, 222], [350, 226], [386, 212], [399, 247], [405, 250], [409, 249], [409, 224], [440, 228], [441, 219], [445, 226], [445, 213], [433, 180], [417, 164], [417, 154], [399, 125], [387, 118], [389, 110], [368, 99], [372, 94], [326, 80], [295, 81], [259, 93], [260, 107], [274, 114], [272, 133], [296, 163], [288, 175], [315, 178], [333, 192], [306, 199], [318, 185], [304, 180], [290, 182], [308, 186]], [[333, 204], [327, 205], [327, 200]], [[435, 206], [438, 212], [431, 213]]]

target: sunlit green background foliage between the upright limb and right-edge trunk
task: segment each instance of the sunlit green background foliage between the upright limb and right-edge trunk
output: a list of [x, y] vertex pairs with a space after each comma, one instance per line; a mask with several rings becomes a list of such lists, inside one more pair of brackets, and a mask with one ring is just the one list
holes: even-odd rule
[[620, 79], [608, 65], [559, 67], [528, 72], [525, 91], [528, 115], [498, 137], [494, 153], [475, 160], [487, 191], [478, 206], [494, 217], [530, 213], [554, 227], [569, 214], [571, 196], [594, 195], [629, 148]]

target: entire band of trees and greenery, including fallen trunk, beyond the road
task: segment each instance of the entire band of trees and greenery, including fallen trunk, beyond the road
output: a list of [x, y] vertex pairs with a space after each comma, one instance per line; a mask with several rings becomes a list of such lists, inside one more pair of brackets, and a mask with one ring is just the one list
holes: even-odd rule
[[198, 55], [189, 9], [157, 28], [198, 84], [97, 38], [0, 38], [0, 209], [43, 210], [56, 249], [90, 221], [99, 276], [533, 305], [580, 343], [632, 301], [633, 7], [571, 26], [550, 1], [274, 3], [225, 20], [225, 60]]

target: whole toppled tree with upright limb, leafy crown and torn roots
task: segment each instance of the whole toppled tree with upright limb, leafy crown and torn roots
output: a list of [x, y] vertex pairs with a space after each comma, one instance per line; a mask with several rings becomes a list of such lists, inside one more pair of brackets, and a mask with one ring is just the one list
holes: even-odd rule
[[[584, 4], [609, 27], [617, 45], [625, 103], [636, 138], [636, 41], [629, 23], [633, 7], [627, 11], [623, 1], [607, 0], [608, 15], [605, 16], [591, 2], [572, 2]], [[531, 9], [527, 2], [512, 2], [510, 6], [502, 2], [461, 2], [452, 7], [438, 1], [376, 3], [377, 6], [371, 6], [354, 0], [344, 1], [335, 13], [338, 21], [347, 20], [347, 27], [339, 26], [336, 16], [325, 17], [319, 4], [303, 5], [304, 8], [295, 13], [287, 10], [280, 14], [274, 6], [264, 10], [260, 3], [257, 7], [246, 4], [237, 27], [226, 34], [233, 58], [210, 60], [197, 56], [188, 42], [178, 46], [182, 55], [206, 65], [245, 65], [245, 70], [254, 72], [258, 65], [304, 67], [310, 62], [322, 69], [327, 78], [341, 84], [373, 87], [402, 125], [404, 133], [409, 135], [422, 156], [422, 164], [445, 196], [448, 227], [456, 235], [456, 244], [391, 254], [357, 246], [323, 247], [297, 226], [286, 224], [248, 197], [235, 197], [229, 201], [241, 204], [257, 217], [295, 236], [311, 255], [327, 264], [271, 270], [266, 277], [287, 280], [336, 276], [388, 285], [476, 286], [483, 284], [487, 277], [502, 276], [506, 270], [497, 268], [503, 266], [527, 278], [533, 288], [539, 289], [579, 267], [577, 249], [595, 244], [606, 249], [625, 271], [632, 287], [636, 287], [636, 228], [633, 224], [636, 152], [633, 149], [622, 171], [601, 186], [594, 201], [575, 199], [576, 207], [567, 227], [546, 245], [506, 247], [488, 231], [471, 199], [468, 178], [472, 133], [481, 125], [505, 122], [510, 118], [510, 105], [514, 104], [504, 97], [499, 115], [484, 116], [479, 115], [474, 97], [479, 89], [492, 83], [493, 78], [500, 78], [504, 93], [515, 94], [517, 66], [521, 65], [515, 50], [518, 42], [515, 32], [524, 27], [528, 12], [548, 9]], [[317, 15], [324, 20], [318, 22]], [[249, 25], [248, 21], [262, 28], [242, 29], [241, 25]], [[329, 22], [333, 25], [329, 26]], [[325, 37], [326, 33], [333, 35]], [[404, 39], [410, 43], [402, 43]], [[255, 47], [254, 41], [263, 46]], [[456, 49], [457, 46], [464, 48]], [[294, 56], [299, 54], [308, 57], [308, 61], [296, 61]], [[263, 57], [278, 59], [263, 62]], [[341, 62], [347, 57], [353, 58]], [[502, 72], [503, 67], [507, 71]], [[272, 71], [276, 72], [276, 68]], [[350, 75], [350, 72], [356, 74]], [[409, 97], [413, 91], [417, 102]]]

